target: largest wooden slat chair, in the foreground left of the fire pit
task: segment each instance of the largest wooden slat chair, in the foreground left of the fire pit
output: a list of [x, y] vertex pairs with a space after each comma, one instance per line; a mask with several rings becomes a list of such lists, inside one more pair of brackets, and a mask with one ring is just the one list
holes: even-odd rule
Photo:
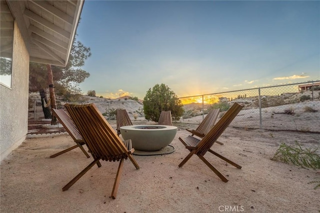
[[134, 167], [136, 169], [140, 169], [132, 156], [134, 149], [131, 146], [131, 140], [126, 140], [123, 143], [94, 104], [65, 104], [64, 106], [81, 133], [94, 160], [68, 184], [66, 184], [62, 188], [62, 191], [68, 190], [94, 164], [99, 162], [99, 160], [110, 162], [119, 161], [111, 193], [111, 198], [115, 199], [122, 173], [123, 160], [129, 158]]

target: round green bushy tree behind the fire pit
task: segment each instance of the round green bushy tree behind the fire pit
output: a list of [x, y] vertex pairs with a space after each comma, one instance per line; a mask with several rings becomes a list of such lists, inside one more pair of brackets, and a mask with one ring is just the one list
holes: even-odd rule
[[143, 112], [147, 120], [158, 122], [161, 111], [171, 111], [173, 120], [183, 115], [183, 104], [175, 93], [165, 84], [155, 84], [149, 88], [143, 99]]

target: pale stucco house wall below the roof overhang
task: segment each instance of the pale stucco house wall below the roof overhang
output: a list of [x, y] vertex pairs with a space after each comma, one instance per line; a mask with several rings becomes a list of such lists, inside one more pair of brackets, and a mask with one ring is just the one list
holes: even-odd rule
[[14, 23], [12, 86], [0, 85], [0, 161], [18, 147], [27, 134], [29, 54]]

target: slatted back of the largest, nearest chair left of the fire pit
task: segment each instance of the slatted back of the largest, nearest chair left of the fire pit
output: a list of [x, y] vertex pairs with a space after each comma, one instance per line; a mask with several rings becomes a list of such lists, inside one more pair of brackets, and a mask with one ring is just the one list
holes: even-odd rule
[[65, 104], [91, 154], [105, 161], [127, 159], [128, 150], [94, 104]]

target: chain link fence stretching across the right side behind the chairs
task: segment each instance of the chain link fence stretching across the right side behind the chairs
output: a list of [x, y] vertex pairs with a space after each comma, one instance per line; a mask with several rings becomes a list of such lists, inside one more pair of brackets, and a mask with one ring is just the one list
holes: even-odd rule
[[230, 126], [244, 129], [292, 130], [320, 133], [320, 81], [267, 86], [179, 98], [181, 122], [200, 123], [210, 108], [220, 115], [234, 103], [244, 104]]

